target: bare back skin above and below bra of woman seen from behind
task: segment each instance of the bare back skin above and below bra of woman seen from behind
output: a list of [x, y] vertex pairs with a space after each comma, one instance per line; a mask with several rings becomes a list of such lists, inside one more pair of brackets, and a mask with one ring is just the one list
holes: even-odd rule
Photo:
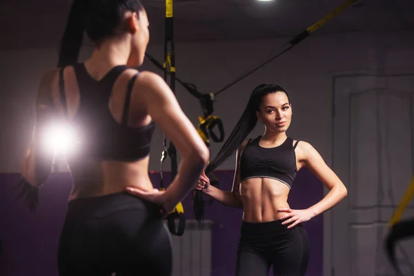
[[[75, 69], [69, 66], [65, 71], [66, 101], [70, 121], [79, 111], [81, 94], [75, 76]], [[121, 124], [122, 110], [124, 108], [124, 91], [129, 81], [127, 72], [128, 70], [123, 72], [115, 81], [108, 103], [108, 111], [119, 124]], [[60, 97], [58, 82], [59, 74], [56, 71], [52, 92], [52, 97], [56, 97], [56, 101]], [[58, 106], [57, 108], [61, 107]], [[144, 110], [144, 107], [142, 109]], [[128, 127], [139, 128], [150, 124], [152, 118], [143, 110], [135, 108], [135, 113], [141, 114], [141, 117], [130, 115]], [[101, 161], [88, 159], [88, 156], [77, 155], [75, 152], [72, 156], [68, 156], [68, 164], [74, 181], [70, 199], [99, 197], [119, 193], [126, 191], [126, 186], [148, 191], [152, 190], [153, 186], [148, 176], [149, 159], [150, 157], [148, 156], [135, 162]]]

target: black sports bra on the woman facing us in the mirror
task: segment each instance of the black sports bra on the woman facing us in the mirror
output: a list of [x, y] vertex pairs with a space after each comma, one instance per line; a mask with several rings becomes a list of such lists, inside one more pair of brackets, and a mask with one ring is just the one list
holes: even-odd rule
[[284, 143], [274, 148], [259, 146], [262, 136], [250, 141], [240, 157], [240, 182], [255, 177], [271, 178], [292, 187], [295, 180], [296, 155], [293, 139], [287, 137]]

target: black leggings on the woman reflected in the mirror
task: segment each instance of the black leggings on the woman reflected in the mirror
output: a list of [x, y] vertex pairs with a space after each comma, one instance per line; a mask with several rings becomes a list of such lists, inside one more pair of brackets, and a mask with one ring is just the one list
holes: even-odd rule
[[288, 229], [282, 221], [243, 221], [237, 276], [267, 276], [271, 265], [275, 276], [304, 276], [308, 259], [308, 235], [301, 224]]

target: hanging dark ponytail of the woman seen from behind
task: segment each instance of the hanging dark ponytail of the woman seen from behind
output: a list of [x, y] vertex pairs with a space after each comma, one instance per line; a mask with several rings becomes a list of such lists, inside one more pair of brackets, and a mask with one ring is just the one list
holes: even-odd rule
[[61, 38], [58, 67], [65, 67], [77, 63], [85, 30], [86, 2], [88, 0], [74, 0], [68, 15], [65, 32]]

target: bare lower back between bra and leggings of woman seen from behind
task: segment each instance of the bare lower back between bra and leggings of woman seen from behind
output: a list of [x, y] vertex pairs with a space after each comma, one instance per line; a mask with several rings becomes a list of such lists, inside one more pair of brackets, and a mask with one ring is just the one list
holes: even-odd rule
[[152, 190], [148, 175], [149, 157], [135, 162], [69, 161], [74, 181], [70, 199], [99, 197], [126, 191], [126, 186]]

